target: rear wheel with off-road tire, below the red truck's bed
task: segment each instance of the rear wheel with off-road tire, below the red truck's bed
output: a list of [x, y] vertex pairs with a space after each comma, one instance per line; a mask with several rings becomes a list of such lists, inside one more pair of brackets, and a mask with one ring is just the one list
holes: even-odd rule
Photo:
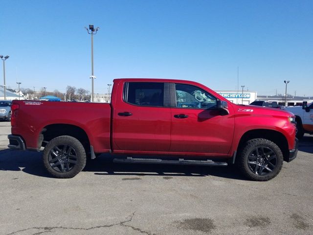
[[[62, 148], [62, 146], [67, 146], [68, 148]], [[67, 150], [63, 151], [64, 149]], [[45, 145], [43, 162], [47, 171], [54, 177], [72, 178], [84, 169], [86, 165], [86, 152], [82, 143], [76, 138], [59, 136]], [[63, 165], [63, 170], [61, 165]]]

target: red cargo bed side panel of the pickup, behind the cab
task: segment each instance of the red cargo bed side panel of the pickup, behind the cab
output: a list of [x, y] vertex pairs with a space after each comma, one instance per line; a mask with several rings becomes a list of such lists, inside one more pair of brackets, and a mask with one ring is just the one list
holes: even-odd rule
[[[89, 137], [94, 152], [109, 152], [111, 106], [108, 103], [14, 100], [18, 104], [12, 134], [22, 136], [27, 149], [38, 149], [47, 128], [75, 125]], [[49, 140], [45, 140], [49, 141]]]

